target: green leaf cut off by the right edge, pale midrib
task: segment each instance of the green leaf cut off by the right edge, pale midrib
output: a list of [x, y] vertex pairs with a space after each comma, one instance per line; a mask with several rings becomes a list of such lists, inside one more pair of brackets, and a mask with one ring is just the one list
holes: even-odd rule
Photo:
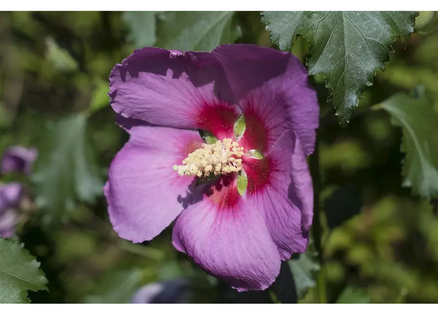
[[438, 113], [424, 91], [418, 90], [416, 96], [399, 93], [379, 107], [403, 130], [403, 186], [412, 187], [413, 194], [431, 198], [438, 195]]

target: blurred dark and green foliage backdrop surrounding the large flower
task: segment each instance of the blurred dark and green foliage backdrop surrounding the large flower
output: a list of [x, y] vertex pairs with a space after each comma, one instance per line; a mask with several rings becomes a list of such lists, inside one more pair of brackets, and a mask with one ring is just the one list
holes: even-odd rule
[[[394, 44], [386, 71], [377, 74], [347, 128], [337, 124], [332, 105], [321, 102], [325, 264], [315, 263], [312, 247], [288, 262], [300, 304], [318, 303], [318, 272], [327, 277], [331, 303], [438, 303], [433, 204], [402, 187], [402, 130], [385, 111], [368, 110], [421, 84], [438, 112], [438, 21], [422, 12], [417, 29], [407, 45]], [[20, 178], [33, 197], [17, 227], [49, 282], [50, 293], [29, 292], [33, 304], [129, 304], [145, 284], [181, 276], [192, 279], [195, 304], [293, 299], [281, 295], [290, 282], [247, 293], [217, 282], [177, 253], [170, 227], [149, 243], [120, 239], [102, 193], [107, 168], [127, 140], [108, 103], [112, 67], [144, 46], [270, 47], [258, 11], [1, 11], [0, 38], [0, 152], [11, 145], [39, 149], [34, 174]], [[299, 38], [293, 53], [303, 60], [307, 48]], [[329, 91], [320, 78], [312, 80], [325, 100]]]

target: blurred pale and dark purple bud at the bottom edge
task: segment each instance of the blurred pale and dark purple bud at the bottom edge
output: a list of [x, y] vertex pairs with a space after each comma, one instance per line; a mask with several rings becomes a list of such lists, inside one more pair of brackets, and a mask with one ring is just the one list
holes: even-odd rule
[[189, 286], [187, 278], [151, 283], [137, 290], [131, 305], [190, 305]]

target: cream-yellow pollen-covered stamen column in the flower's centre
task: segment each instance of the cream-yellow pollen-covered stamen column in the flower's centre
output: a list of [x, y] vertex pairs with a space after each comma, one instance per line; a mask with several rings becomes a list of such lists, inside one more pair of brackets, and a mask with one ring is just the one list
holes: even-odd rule
[[182, 165], [174, 165], [173, 170], [180, 176], [208, 177], [237, 172], [242, 169], [243, 147], [233, 142], [231, 138], [224, 138], [214, 144], [204, 144], [202, 148], [190, 153], [182, 160]]

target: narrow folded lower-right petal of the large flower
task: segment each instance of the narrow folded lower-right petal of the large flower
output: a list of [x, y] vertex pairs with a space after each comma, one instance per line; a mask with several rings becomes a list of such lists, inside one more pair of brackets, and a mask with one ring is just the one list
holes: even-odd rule
[[244, 160], [247, 200], [265, 216], [283, 261], [303, 253], [313, 217], [313, 187], [300, 139], [286, 131], [263, 159]]

